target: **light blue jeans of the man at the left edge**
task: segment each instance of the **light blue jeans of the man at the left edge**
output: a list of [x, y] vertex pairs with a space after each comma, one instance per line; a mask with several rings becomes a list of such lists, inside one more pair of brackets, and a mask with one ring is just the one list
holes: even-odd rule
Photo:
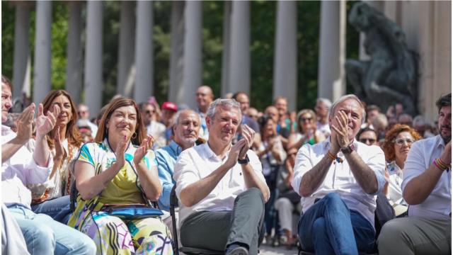
[[86, 234], [22, 205], [8, 210], [21, 227], [30, 254], [96, 254], [96, 244]]

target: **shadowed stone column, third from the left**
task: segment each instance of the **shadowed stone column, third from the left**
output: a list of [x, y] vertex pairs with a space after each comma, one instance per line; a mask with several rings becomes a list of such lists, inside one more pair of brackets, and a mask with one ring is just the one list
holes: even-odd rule
[[69, 28], [66, 67], [66, 91], [79, 104], [82, 92], [82, 2], [69, 1]]

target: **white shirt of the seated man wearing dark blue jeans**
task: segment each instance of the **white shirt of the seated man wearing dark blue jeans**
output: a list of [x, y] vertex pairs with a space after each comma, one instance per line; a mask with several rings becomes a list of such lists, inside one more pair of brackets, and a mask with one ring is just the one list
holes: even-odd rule
[[[354, 140], [353, 145], [359, 157], [374, 171], [377, 178], [378, 191], [382, 191], [384, 187], [384, 170], [385, 157], [382, 149], [372, 145], [368, 146], [362, 142]], [[299, 194], [299, 186], [306, 172], [318, 164], [328, 149], [331, 148], [330, 138], [319, 142], [316, 145], [306, 144], [299, 149], [294, 165], [294, 179], [292, 179], [292, 187]], [[348, 205], [350, 210], [360, 212], [374, 226], [374, 210], [376, 210], [376, 195], [369, 195], [362, 190], [359, 183], [355, 180], [355, 176], [350, 170], [348, 161], [346, 161], [343, 153], [339, 152], [338, 157], [343, 159], [343, 163], [331, 164], [328, 169], [326, 178], [319, 188], [304, 198], [301, 196], [302, 210], [308, 210], [314, 204], [316, 198], [323, 198], [328, 193], [337, 193], [340, 198]], [[299, 194], [300, 195], [300, 194]]]

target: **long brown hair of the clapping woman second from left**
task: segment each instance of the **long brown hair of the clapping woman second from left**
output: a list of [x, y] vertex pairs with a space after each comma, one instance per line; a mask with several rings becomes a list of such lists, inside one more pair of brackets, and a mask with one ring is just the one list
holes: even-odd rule
[[[76, 111], [76, 104], [74, 103], [74, 100], [72, 100], [71, 96], [67, 91], [64, 91], [62, 89], [59, 90], [54, 90], [50, 91], [47, 96], [45, 96], [44, 100], [42, 100], [42, 106], [43, 107], [43, 112], [47, 113], [47, 111], [50, 110], [52, 107], [52, 102], [55, 100], [55, 98], [59, 96], [66, 96], [68, 98], [69, 103], [71, 104], [71, 120], [67, 123], [67, 128], [66, 128], [66, 137], [68, 140], [69, 145], [74, 145], [75, 147], [80, 147], [82, 143], [82, 136], [79, 132], [79, 129], [77, 128], [77, 111]], [[54, 128], [55, 130], [55, 128]], [[46, 136], [47, 139], [47, 144], [50, 147], [54, 147], [54, 141], [50, 139], [50, 135]]]

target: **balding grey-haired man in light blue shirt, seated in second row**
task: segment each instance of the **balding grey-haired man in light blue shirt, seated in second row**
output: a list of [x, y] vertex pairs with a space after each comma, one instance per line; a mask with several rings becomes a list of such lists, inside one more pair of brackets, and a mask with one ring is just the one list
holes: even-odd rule
[[162, 181], [162, 195], [159, 198], [159, 208], [170, 210], [170, 193], [173, 185], [173, 173], [179, 154], [193, 147], [200, 132], [201, 118], [192, 110], [178, 111], [173, 124], [173, 140], [166, 147], [156, 150], [157, 169]]

